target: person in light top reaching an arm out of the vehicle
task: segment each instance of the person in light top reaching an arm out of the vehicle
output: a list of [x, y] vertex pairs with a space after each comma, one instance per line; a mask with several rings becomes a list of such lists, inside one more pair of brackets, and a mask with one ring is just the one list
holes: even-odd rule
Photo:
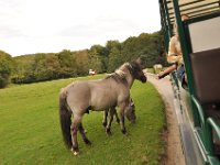
[[[182, 21], [188, 20], [189, 16], [187, 14], [182, 15]], [[167, 76], [169, 73], [173, 70], [177, 69], [177, 75], [179, 80], [182, 81], [183, 88], [187, 88], [187, 79], [185, 76], [185, 67], [184, 67], [184, 61], [183, 61], [183, 53], [182, 53], [182, 46], [179, 42], [179, 36], [178, 36], [178, 31], [177, 31], [177, 25], [174, 23], [174, 33], [175, 35], [172, 36], [169, 41], [169, 47], [168, 47], [168, 56], [167, 56], [167, 62], [173, 64], [165, 70], [161, 72], [157, 75], [157, 78], [164, 78]]]

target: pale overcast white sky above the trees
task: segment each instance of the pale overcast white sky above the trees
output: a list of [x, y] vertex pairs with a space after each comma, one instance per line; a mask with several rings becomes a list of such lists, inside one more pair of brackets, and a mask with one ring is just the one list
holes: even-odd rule
[[0, 0], [0, 50], [79, 51], [161, 30], [157, 0]]

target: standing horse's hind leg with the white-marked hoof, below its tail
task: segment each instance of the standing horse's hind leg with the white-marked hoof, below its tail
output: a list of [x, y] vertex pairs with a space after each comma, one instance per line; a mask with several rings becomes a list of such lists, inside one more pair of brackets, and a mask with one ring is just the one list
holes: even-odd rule
[[81, 122], [81, 117], [74, 116], [74, 121], [72, 123], [70, 130], [72, 130], [72, 142], [73, 142], [73, 147], [72, 151], [74, 152], [74, 155], [79, 154], [79, 147], [78, 147], [78, 142], [77, 142], [77, 131], [79, 123]]

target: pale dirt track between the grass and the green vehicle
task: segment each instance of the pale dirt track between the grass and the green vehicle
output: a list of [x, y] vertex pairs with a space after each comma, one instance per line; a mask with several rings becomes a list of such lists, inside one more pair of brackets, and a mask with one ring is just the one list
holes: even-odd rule
[[155, 75], [146, 74], [147, 80], [152, 82], [161, 94], [166, 107], [167, 131], [164, 133], [166, 142], [166, 153], [162, 161], [164, 165], [185, 165], [182, 143], [179, 138], [178, 123], [174, 109], [174, 94], [169, 82], [169, 77], [161, 80], [156, 79]]

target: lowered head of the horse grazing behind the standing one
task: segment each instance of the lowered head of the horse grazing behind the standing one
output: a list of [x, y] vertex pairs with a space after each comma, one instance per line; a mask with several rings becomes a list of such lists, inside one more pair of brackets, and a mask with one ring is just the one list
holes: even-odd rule
[[135, 106], [132, 99], [130, 99], [129, 107], [125, 110], [125, 117], [131, 123], [135, 123], [136, 121]]

